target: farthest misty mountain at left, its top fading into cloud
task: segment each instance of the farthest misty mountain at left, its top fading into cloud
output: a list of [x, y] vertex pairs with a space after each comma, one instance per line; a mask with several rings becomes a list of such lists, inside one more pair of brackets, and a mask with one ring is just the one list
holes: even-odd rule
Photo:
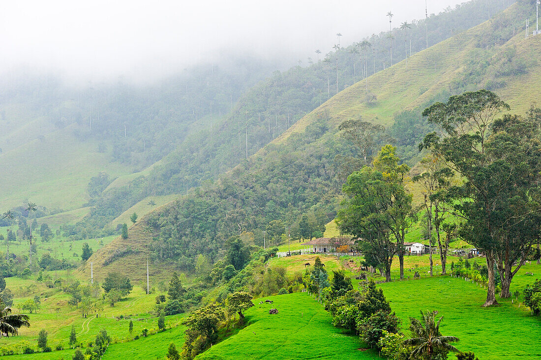
[[78, 87], [55, 76], [1, 77], [0, 208], [27, 199], [49, 210], [83, 206], [91, 200], [91, 177], [144, 171], [227, 114], [273, 69], [266, 61], [231, 56], [158, 84]]

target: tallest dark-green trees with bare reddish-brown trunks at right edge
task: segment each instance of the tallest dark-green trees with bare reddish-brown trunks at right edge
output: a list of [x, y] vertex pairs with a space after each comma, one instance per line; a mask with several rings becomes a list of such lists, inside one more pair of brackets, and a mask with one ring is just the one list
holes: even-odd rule
[[426, 135], [423, 147], [442, 156], [465, 180], [451, 193], [456, 215], [465, 220], [459, 234], [486, 255], [489, 286], [484, 306], [497, 304], [494, 264], [502, 280], [501, 296], [509, 297], [511, 279], [541, 228], [540, 116], [531, 110], [526, 119], [496, 119], [508, 109], [496, 94], [479, 90], [452, 96], [423, 112], [446, 135]]

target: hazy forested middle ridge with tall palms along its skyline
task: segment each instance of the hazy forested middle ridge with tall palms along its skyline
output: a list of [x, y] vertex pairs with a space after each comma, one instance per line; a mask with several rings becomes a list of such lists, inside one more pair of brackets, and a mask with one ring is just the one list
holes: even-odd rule
[[[503, 3], [492, 3], [490, 13], [496, 13], [502, 9], [502, 5]], [[430, 42], [449, 38], [459, 29], [478, 24], [486, 14], [487, 3], [475, 0], [457, 5], [456, 9], [432, 15], [428, 21]], [[424, 21], [414, 21], [411, 25], [410, 32], [403, 32], [399, 29], [393, 29], [391, 32], [395, 37], [393, 63], [404, 58], [404, 54], [401, 54], [397, 47], [408, 38], [412, 40], [412, 50], [415, 56], [418, 55], [416, 52], [425, 46]], [[368, 56], [367, 61], [370, 60], [368, 61], [368, 70], [379, 74], [378, 71], [382, 70], [388, 63], [388, 58], [385, 57], [390, 45], [386, 38], [387, 35], [390, 35], [389, 32], [382, 32], [368, 38], [373, 44], [372, 53], [367, 51], [365, 54], [359, 54], [361, 49], [358, 44], [352, 44], [337, 51], [331, 51], [325, 55], [324, 60], [313, 63], [311, 66], [295, 66], [283, 73], [276, 71], [271, 77], [246, 91], [232, 111], [223, 119], [215, 122], [207, 121], [207, 128], [202, 129], [199, 133], [190, 133], [190, 136], [187, 136], [174, 152], [159, 161], [157, 164], [159, 166], [153, 166], [142, 173], [122, 176], [115, 180], [101, 197], [92, 202], [95, 210], [90, 219], [87, 219], [87, 223], [81, 224], [79, 228], [84, 228], [85, 232], [88, 232], [92, 230], [91, 228], [106, 226], [120, 213], [127, 211], [129, 207], [144, 198], [175, 193], [182, 194], [187, 188], [200, 186], [204, 181], [215, 180], [217, 176], [242, 162], [246, 155], [254, 154], [286, 131], [302, 116], [327, 101], [330, 96], [336, 93], [337, 89], [343, 89], [347, 87], [346, 84], [358, 82], [363, 77], [359, 68], [362, 68], [365, 55]], [[452, 49], [447, 50], [452, 51]], [[373, 58], [377, 54], [380, 58]], [[428, 62], [436, 62], [435, 69], [438, 68], [436, 65], [438, 65], [439, 56], [441, 55], [427, 58]], [[370, 66], [372, 60], [374, 60], [373, 68]], [[436, 70], [434, 70], [436, 74], [425, 71], [425, 68], [430, 68], [430, 66], [423, 63], [422, 58], [417, 68], [413, 67], [414, 65], [411, 64], [408, 75], [415, 78], [418, 83], [430, 82], [434, 75], [440, 75]], [[447, 64], [440, 64], [440, 69], [444, 66]], [[426, 76], [423, 77], [423, 74]], [[385, 80], [385, 76], [379, 78], [380, 83]], [[404, 78], [397, 80], [398, 82], [404, 81]], [[374, 95], [373, 89], [377, 86], [368, 87], [370, 96]], [[411, 84], [404, 82], [403, 84], [389, 83], [387, 85], [390, 91], [394, 91], [398, 86], [407, 87]], [[426, 92], [425, 97], [433, 95], [433, 92], [426, 91], [427, 89], [423, 89], [423, 87], [420, 86], [419, 89]], [[379, 101], [381, 106], [374, 107], [374, 104], [368, 103], [362, 107], [361, 103], [364, 99], [361, 98], [359, 108], [347, 108], [342, 117], [355, 116], [362, 110], [374, 121], [390, 123], [393, 114], [403, 109], [394, 105], [392, 94], [385, 94], [384, 91], [379, 92], [381, 93]], [[385, 99], [386, 95], [387, 100]], [[417, 94], [410, 92], [408, 95]], [[362, 96], [366, 97], [366, 95]], [[375, 110], [374, 114], [370, 113], [371, 109]], [[412, 141], [414, 142], [414, 140]], [[411, 157], [413, 152], [411, 144], [408, 151], [410, 152], [408, 156]], [[141, 178], [140, 175], [144, 178]], [[98, 223], [96, 221], [98, 217], [107, 217], [109, 221], [98, 221]]]

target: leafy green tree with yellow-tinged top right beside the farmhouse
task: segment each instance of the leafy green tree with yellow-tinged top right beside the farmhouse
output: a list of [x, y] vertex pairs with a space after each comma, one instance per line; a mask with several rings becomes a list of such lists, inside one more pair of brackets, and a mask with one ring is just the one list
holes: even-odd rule
[[347, 198], [337, 223], [342, 232], [362, 239], [361, 247], [385, 268], [387, 281], [391, 281], [393, 256], [398, 254], [403, 279], [404, 238], [414, 220], [412, 195], [405, 188], [409, 168], [399, 164], [391, 145], [382, 147], [372, 164], [348, 176], [342, 188]]

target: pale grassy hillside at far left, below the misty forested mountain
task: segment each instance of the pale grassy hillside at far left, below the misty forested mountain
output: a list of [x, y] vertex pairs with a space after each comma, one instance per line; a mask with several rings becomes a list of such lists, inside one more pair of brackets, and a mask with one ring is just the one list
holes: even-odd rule
[[98, 152], [98, 142], [83, 142], [64, 128], [0, 154], [0, 211], [30, 200], [39, 206], [73, 210], [89, 197], [88, 181], [99, 172], [128, 174]]

